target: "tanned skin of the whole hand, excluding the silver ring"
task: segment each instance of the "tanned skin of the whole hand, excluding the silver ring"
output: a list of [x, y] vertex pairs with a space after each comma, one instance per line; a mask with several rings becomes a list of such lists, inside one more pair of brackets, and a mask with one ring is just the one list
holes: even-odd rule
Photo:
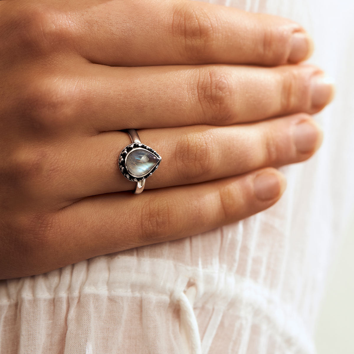
[[[0, 279], [267, 209], [333, 96], [300, 25], [196, 1], [2, 0], [0, 47]], [[128, 128], [162, 156], [139, 195]]]

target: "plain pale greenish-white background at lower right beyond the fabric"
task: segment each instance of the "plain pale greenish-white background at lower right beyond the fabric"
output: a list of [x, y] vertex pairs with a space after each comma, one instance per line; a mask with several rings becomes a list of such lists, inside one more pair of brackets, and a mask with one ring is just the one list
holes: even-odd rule
[[318, 354], [354, 354], [354, 213], [338, 239], [315, 333]]

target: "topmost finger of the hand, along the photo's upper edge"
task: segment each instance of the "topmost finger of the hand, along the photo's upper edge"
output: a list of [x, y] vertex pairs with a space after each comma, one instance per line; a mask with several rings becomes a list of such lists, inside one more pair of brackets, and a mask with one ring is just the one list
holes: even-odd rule
[[[13, 5], [18, 20], [24, 10]], [[112, 66], [280, 65], [312, 52], [308, 34], [289, 19], [199, 1], [75, 1], [36, 4], [25, 13], [56, 48]]]

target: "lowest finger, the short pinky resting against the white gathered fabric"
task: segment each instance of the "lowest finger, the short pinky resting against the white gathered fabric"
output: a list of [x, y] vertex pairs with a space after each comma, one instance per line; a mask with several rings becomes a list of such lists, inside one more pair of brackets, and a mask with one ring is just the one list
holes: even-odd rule
[[[198, 184], [90, 196], [60, 210], [51, 269], [93, 256], [175, 240], [251, 216], [284, 192], [273, 168]], [[59, 234], [58, 234], [58, 230]], [[41, 254], [43, 255], [43, 247]], [[48, 269], [49, 270], [49, 269]]]

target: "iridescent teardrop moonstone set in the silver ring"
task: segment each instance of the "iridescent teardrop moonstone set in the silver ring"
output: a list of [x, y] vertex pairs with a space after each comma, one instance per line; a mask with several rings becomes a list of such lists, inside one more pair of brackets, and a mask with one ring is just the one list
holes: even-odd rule
[[143, 177], [147, 175], [160, 160], [145, 149], [136, 149], [128, 153], [126, 166], [128, 171], [136, 176]]

